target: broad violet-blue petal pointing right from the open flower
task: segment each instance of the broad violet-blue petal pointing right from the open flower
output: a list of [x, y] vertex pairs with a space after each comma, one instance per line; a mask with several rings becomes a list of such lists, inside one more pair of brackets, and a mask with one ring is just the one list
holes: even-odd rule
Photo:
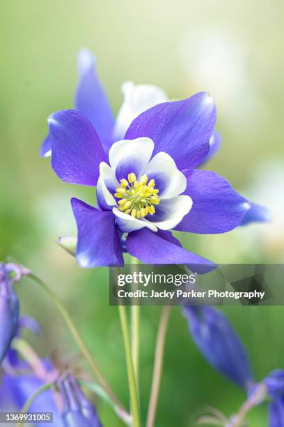
[[215, 172], [183, 171], [187, 177], [184, 194], [193, 200], [191, 211], [175, 230], [200, 234], [225, 233], [237, 227], [249, 209], [247, 200]]

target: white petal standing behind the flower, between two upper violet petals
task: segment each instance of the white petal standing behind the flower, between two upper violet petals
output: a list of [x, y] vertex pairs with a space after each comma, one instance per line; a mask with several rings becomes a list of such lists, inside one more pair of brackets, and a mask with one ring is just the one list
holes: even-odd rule
[[122, 86], [124, 95], [123, 105], [120, 107], [113, 131], [114, 140], [125, 136], [127, 129], [136, 117], [154, 105], [168, 100], [166, 93], [152, 84], [137, 84], [125, 82]]

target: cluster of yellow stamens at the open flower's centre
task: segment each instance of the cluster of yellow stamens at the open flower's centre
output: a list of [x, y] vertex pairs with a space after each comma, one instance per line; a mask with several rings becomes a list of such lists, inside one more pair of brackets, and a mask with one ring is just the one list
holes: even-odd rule
[[154, 204], [159, 204], [157, 194], [159, 190], [155, 188], [155, 180], [148, 182], [147, 175], [143, 175], [140, 181], [137, 181], [136, 175], [132, 172], [128, 174], [127, 179], [120, 179], [120, 187], [116, 188], [116, 197], [119, 204], [119, 210], [128, 213], [133, 218], [144, 218], [144, 216], [155, 213]]

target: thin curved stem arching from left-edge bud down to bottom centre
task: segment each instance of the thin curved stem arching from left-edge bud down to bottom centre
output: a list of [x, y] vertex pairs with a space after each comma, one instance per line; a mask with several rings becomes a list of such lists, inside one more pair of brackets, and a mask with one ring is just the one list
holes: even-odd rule
[[68, 328], [70, 329], [70, 332], [71, 332], [72, 336], [74, 337], [74, 340], [76, 340], [77, 344], [79, 345], [79, 348], [81, 349], [82, 354], [84, 354], [84, 357], [87, 359], [87, 361], [90, 364], [91, 368], [93, 369], [97, 379], [102, 384], [102, 387], [104, 388], [105, 391], [107, 391], [107, 394], [109, 394], [109, 397], [111, 398], [111, 400], [113, 400], [113, 402], [116, 403], [116, 405], [120, 408], [120, 410], [122, 410], [123, 412], [127, 412], [127, 410], [125, 409], [123, 404], [120, 402], [120, 400], [118, 399], [116, 394], [114, 394], [113, 391], [111, 390], [111, 387], [109, 386], [109, 383], [107, 382], [107, 380], [104, 378], [104, 375], [102, 375], [102, 373], [100, 372], [100, 368], [98, 368], [97, 364], [93, 360], [93, 357], [91, 356], [90, 352], [88, 351], [88, 348], [86, 347], [84, 341], [82, 340], [82, 338], [79, 334], [79, 331], [77, 330], [77, 327], [75, 326], [74, 322], [72, 321], [72, 318], [70, 317], [68, 310], [66, 310], [64, 304], [56, 297], [56, 294], [54, 294], [54, 292], [52, 292], [52, 290], [49, 289], [49, 287], [45, 284], [45, 282], [43, 282], [38, 276], [31, 273], [31, 274], [29, 274], [29, 277], [34, 282], [38, 283], [38, 285], [40, 285], [42, 290], [44, 290], [49, 295], [49, 297], [52, 299], [52, 301], [54, 301], [54, 304], [56, 304], [56, 306], [57, 306], [58, 310], [60, 311], [61, 315], [63, 316], [63, 319], [65, 320]]

